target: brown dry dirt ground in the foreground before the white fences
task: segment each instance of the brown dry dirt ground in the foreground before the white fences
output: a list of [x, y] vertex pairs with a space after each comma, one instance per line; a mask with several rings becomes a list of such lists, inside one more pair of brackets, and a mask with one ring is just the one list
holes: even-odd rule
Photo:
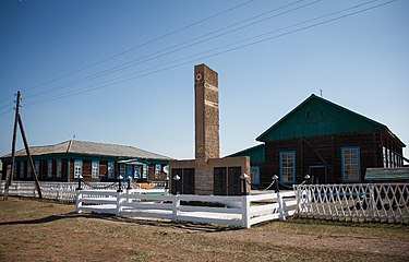
[[0, 200], [0, 261], [409, 261], [409, 226], [290, 219], [251, 229]]

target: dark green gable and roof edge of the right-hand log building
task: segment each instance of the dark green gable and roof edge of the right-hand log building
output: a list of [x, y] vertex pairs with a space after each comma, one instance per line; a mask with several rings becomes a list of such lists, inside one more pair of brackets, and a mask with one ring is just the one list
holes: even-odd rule
[[385, 124], [313, 94], [256, 140], [266, 142], [377, 130], [387, 130], [398, 140]]

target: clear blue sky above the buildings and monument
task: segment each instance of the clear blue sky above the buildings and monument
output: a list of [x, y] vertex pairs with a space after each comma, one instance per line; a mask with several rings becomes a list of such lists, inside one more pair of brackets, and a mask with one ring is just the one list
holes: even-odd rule
[[409, 144], [409, 1], [388, 2], [2, 0], [0, 155], [20, 90], [31, 145], [75, 134], [193, 158], [199, 63], [219, 74], [221, 155], [321, 90]]

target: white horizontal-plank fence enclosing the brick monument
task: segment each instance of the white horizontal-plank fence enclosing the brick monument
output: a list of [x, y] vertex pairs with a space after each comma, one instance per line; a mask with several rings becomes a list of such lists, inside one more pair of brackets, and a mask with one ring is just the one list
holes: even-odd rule
[[245, 228], [266, 221], [286, 219], [297, 207], [293, 191], [242, 196], [155, 195], [139, 190], [79, 190], [76, 194], [79, 213], [108, 213]]

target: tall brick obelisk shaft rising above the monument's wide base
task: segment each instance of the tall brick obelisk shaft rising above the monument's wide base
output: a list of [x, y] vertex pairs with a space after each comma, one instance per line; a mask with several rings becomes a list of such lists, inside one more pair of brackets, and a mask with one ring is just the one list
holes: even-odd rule
[[195, 158], [219, 158], [218, 75], [206, 64], [194, 67]]

